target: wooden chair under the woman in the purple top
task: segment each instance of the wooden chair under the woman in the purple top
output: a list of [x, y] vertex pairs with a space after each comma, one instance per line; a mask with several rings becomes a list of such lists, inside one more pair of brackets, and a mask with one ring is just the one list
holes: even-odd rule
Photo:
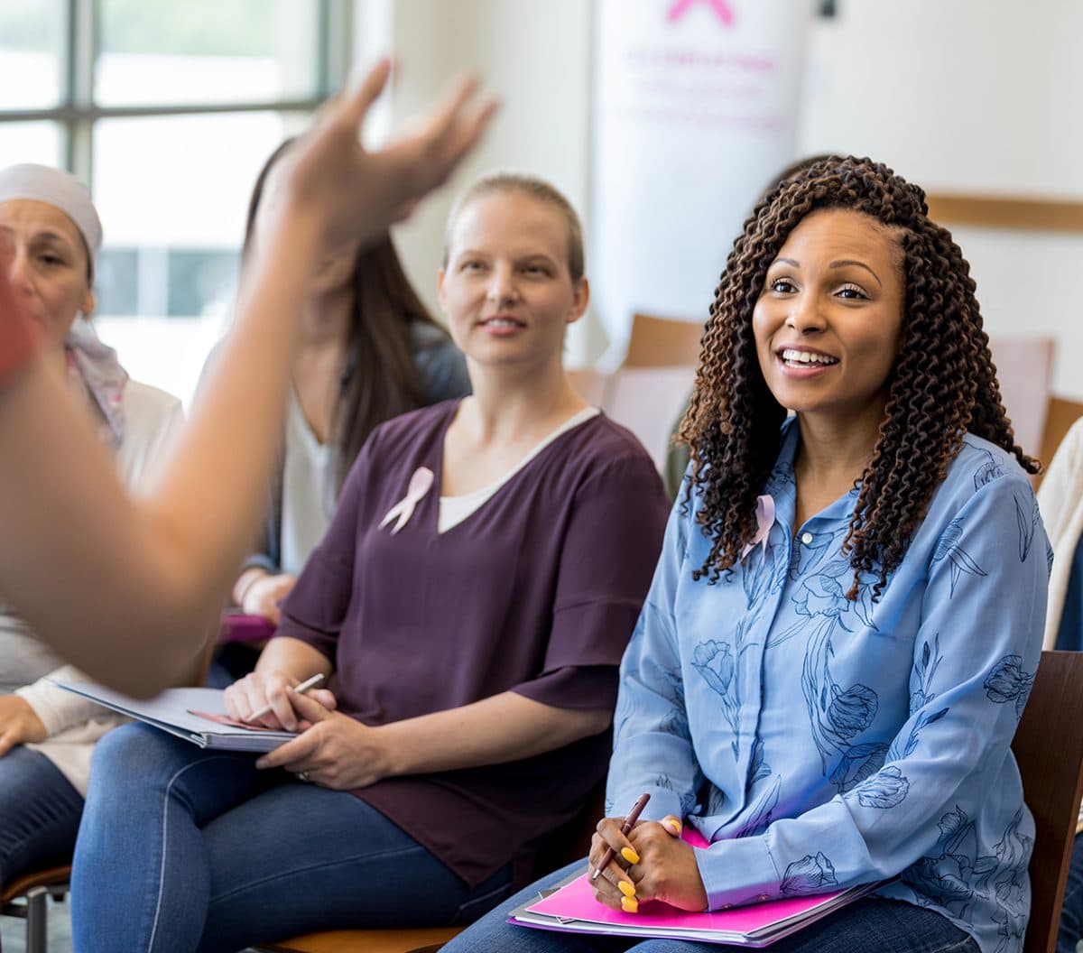
[[[605, 812], [605, 785], [599, 784], [583, 810], [538, 852], [536, 876], [559, 870], [586, 857], [598, 819]], [[258, 947], [263, 953], [435, 953], [466, 927], [428, 927], [399, 930], [332, 930], [306, 934], [279, 943]]]

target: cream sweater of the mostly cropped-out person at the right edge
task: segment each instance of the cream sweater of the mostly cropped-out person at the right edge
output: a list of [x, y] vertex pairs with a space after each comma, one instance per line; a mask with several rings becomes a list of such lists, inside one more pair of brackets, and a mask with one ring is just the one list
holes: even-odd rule
[[1083, 419], [1072, 425], [1053, 457], [1038, 492], [1038, 505], [1055, 557], [1042, 643], [1052, 649], [1060, 628], [1075, 547], [1083, 536]]

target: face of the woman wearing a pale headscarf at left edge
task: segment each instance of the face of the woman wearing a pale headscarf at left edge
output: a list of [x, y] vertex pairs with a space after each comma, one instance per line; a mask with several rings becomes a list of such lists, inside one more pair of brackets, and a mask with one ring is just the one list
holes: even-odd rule
[[89, 316], [94, 293], [79, 230], [55, 206], [32, 199], [0, 203], [0, 233], [13, 247], [11, 284], [41, 326], [44, 347], [61, 351], [76, 315]]

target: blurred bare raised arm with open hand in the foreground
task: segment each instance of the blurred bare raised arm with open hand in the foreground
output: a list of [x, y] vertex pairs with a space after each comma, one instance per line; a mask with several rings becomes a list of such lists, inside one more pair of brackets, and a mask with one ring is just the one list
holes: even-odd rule
[[[184, 667], [251, 545], [309, 275], [443, 182], [492, 114], [468, 110], [474, 87], [459, 83], [414, 133], [366, 152], [358, 129], [388, 71], [381, 63], [331, 103], [284, 158], [284, 199], [261, 224], [220, 369], [148, 494], [125, 493], [43, 365], [0, 390], [0, 589], [70, 662], [122, 691], [153, 694]], [[0, 309], [17, 311], [0, 283]]]

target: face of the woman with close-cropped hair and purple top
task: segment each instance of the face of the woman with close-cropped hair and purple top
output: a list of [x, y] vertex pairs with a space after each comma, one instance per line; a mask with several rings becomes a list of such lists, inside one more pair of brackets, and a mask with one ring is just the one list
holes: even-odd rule
[[448, 232], [440, 304], [455, 343], [481, 365], [559, 366], [564, 329], [589, 292], [569, 270], [569, 232], [556, 207], [518, 192], [469, 201]]

